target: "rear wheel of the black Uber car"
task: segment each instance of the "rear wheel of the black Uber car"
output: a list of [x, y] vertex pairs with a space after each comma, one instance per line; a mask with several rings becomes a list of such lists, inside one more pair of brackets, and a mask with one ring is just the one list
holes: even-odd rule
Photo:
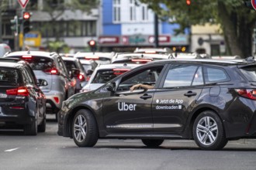
[[227, 145], [227, 138], [220, 117], [211, 110], [203, 111], [195, 118], [193, 137], [203, 150], [220, 150]]

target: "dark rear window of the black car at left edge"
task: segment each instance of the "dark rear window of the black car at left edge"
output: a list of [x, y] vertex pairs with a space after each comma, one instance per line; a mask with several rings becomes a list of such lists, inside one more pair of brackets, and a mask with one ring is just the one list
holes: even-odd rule
[[0, 67], [0, 85], [17, 85], [22, 83], [19, 70], [14, 68]]

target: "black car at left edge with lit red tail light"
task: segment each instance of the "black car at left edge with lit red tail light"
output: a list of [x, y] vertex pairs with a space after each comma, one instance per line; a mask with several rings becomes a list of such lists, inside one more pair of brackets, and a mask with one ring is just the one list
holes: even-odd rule
[[0, 128], [21, 126], [26, 135], [46, 130], [46, 97], [29, 63], [19, 59], [0, 59]]

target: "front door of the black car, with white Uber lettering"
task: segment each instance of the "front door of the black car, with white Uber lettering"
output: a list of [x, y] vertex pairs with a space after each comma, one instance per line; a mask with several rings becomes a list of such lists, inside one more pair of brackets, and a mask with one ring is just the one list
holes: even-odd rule
[[[162, 66], [161, 66], [162, 68]], [[103, 119], [109, 133], [142, 133], [153, 131], [151, 104], [155, 89], [138, 89], [130, 92], [137, 83], [152, 83], [152, 67], [126, 74], [116, 81], [116, 91], [103, 99]]]

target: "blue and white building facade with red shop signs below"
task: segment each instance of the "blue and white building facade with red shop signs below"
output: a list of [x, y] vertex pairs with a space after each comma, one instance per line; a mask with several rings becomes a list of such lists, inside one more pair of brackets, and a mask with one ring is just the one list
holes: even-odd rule
[[[101, 11], [102, 32], [98, 44], [102, 51], [133, 51], [136, 47], [154, 46], [155, 17], [147, 5], [137, 4], [135, 0], [104, 0]], [[159, 19], [158, 45], [189, 50], [189, 31], [175, 36], [178, 27]]]

